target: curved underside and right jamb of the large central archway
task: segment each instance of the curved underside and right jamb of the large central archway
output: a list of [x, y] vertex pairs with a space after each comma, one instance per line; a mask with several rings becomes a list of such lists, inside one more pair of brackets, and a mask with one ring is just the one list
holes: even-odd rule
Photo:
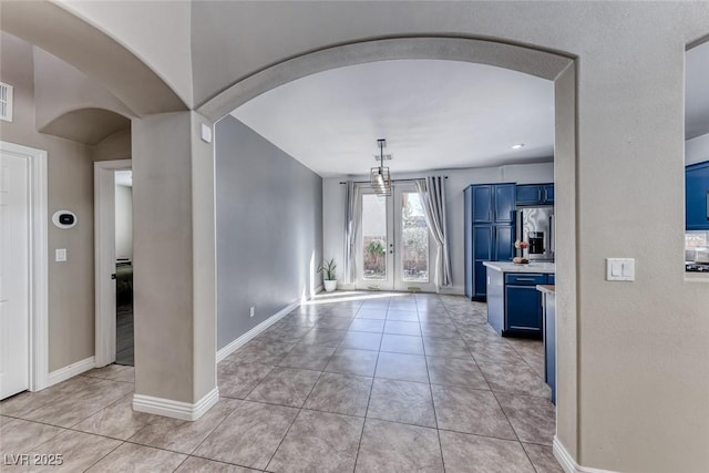
[[217, 121], [255, 96], [310, 74], [347, 65], [397, 60], [466, 61], [528, 73], [555, 85], [557, 188], [557, 439], [575, 455], [577, 443], [576, 279], [576, 63], [569, 55], [471, 38], [391, 38], [327, 48], [271, 65], [207, 101], [197, 111]]

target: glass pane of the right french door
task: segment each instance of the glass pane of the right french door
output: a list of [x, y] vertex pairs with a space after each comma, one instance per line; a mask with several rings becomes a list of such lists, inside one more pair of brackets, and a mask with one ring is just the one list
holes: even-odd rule
[[401, 193], [402, 279], [429, 281], [429, 227], [418, 192]]

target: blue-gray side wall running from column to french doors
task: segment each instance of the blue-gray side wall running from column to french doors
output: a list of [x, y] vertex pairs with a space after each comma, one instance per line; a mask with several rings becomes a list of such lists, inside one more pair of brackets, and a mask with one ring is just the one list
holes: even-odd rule
[[222, 349], [320, 285], [322, 178], [230, 115], [215, 150]]

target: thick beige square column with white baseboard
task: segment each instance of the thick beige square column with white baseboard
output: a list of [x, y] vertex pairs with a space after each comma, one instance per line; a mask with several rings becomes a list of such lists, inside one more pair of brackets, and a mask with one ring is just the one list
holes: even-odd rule
[[196, 420], [218, 400], [214, 150], [194, 112], [136, 119], [133, 134], [133, 408]]

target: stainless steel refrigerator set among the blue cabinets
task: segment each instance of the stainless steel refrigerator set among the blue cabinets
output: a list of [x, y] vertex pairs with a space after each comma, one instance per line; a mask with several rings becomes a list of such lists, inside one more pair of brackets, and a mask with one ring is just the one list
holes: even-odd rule
[[[517, 210], [517, 239], [530, 246], [523, 258], [534, 261], [554, 260], [554, 207], [523, 207]], [[518, 251], [518, 250], [517, 250]]]

